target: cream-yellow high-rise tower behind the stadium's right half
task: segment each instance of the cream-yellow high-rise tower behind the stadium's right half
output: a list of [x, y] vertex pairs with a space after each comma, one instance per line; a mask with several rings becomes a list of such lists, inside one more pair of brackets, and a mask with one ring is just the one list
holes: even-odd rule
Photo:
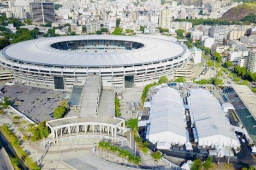
[[164, 29], [169, 29], [172, 17], [173, 16], [172, 16], [171, 10], [169, 9], [160, 10], [158, 26]]

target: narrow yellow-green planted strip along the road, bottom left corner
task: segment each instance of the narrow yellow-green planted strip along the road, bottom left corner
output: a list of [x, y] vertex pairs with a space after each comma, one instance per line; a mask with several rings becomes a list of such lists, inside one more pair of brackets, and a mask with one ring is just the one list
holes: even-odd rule
[[37, 166], [36, 162], [33, 162], [32, 159], [30, 159], [28, 153], [26, 153], [20, 146], [20, 142], [18, 141], [17, 136], [14, 135], [9, 126], [6, 124], [2, 125], [0, 126], [0, 130], [6, 139], [11, 143], [19, 159], [21, 159], [30, 170], [40, 170], [40, 167]]

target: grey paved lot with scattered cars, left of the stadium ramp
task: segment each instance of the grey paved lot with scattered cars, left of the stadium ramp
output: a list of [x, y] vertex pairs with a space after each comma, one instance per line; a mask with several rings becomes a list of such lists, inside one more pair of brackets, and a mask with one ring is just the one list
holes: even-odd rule
[[[65, 99], [66, 94], [70, 94], [70, 92], [16, 84], [4, 87], [0, 95], [8, 96], [12, 100], [14, 108], [36, 123], [40, 123], [44, 120], [54, 119], [54, 109]], [[21, 104], [15, 105], [15, 102], [21, 102]]]

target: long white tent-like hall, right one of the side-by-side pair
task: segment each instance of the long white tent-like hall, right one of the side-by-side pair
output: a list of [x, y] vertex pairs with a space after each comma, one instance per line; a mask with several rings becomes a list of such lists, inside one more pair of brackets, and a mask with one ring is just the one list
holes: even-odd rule
[[[199, 145], [203, 143], [209, 146], [220, 142], [229, 146], [231, 133], [234, 132], [230, 131], [231, 125], [225, 117], [220, 102], [211, 96], [209, 91], [203, 89], [193, 89], [189, 98], [192, 111], [190, 114], [196, 125]], [[232, 143], [237, 146], [239, 141], [235, 134], [232, 139], [234, 139]]]

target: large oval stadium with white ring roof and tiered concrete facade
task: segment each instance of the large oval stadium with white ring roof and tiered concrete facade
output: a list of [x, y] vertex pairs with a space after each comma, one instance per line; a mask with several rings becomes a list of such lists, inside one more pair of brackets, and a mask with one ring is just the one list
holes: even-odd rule
[[102, 85], [132, 88], [172, 79], [191, 53], [170, 36], [87, 35], [39, 38], [9, 45], [0, 65], [20, 83], [71, 90], [98, 74]]

